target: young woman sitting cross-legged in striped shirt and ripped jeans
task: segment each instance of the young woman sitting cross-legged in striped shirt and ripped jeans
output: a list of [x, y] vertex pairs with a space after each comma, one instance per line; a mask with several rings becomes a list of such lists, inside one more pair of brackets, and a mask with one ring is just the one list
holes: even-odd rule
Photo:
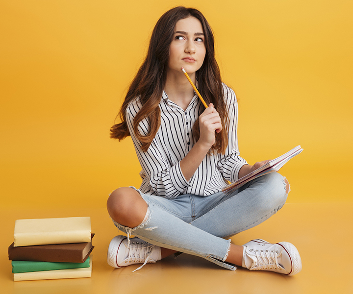
[[112, 138], [131, 136], [142, 184], [139, 190], [119, 188], [108, 198], [109, 215], [127, 234], [111, 241], [109, 265], [145, 265], [184, 252], [229, 270], [238, 265], [293, 275], [302, 269], [290, 243], [255, 239], [241, 246], [225, 239], [275, 214], [289, 192], [278, 173], [230, 194], [221, 191], [226, 180], [234, 182], [266, 163], [251, 166], [239, 156], [237, 116], [237, 100], [222, 83], [206, 19], [193, 8], [169, 10], [155, 25], [147, 57], [129, 87], [122, 123], [111, 128]]

